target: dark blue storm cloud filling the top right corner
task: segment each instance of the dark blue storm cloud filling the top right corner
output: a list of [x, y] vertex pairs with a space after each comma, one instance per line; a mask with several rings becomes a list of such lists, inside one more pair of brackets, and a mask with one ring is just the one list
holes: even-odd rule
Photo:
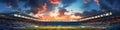
[[[107, 2], [107, 4], [105, 3]], [[100, 0], [100, 8], [105, 10], [105, 11], [110, 11], [112, 8], [118, 8], [119, 9], [119, 4], [120, 0]]]

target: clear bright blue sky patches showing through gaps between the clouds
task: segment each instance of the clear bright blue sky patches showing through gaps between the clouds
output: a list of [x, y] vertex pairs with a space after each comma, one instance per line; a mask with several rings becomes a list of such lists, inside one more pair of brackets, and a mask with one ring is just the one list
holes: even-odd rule
[[[75, 2], [73, 2], [72, 4], [70, 4], [70, 6], [66, 7], [65, 9], [67, 9], [68, 11], [74, 10], [73, 12], [80, 12], [82, 13], [84, 10], [81, 8], [83, 6], [83, 0], [75, 0]], [[25, 8], [24, 7], [25, 3], [24, 2], [19, 2], [18, 6], [19, 8], [22, 8], [23, 10], [27, 10], [30, 8]], [[60, 5], [62, 6], [62, 5]], [[97, 5], [95, 3], [91, 4], [91, 8], [90, 9], [98, 9]], [[7, 3], [0, 3], [0, 11], [9, 11], [10, 8], [7, 7]]]

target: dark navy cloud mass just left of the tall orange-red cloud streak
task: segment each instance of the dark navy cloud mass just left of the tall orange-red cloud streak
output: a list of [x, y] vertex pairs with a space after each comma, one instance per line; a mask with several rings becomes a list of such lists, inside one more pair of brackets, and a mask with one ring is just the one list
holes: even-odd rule
[[35, 13], [36, 11], [39, 11], [37, 9], [38, 8], [41, 9], [43, 4], [47, 4], [47, 7], [48, 7], [48, 5], [50, 5], [50, 4], [48, 4], [48, 2], [49, 2], [48, 0], [22, 0], [22, 2], [25, 2], [25, 7], [31, 7], [31, 11], [33, 13]]

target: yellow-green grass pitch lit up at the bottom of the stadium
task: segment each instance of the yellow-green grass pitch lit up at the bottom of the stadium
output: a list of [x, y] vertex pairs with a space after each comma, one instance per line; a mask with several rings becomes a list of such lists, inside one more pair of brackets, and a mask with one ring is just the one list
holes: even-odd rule
[[26, 27], [22, 30], [102, 30], [98, 28], [74, 27], [74, 26], [35, 26]]

